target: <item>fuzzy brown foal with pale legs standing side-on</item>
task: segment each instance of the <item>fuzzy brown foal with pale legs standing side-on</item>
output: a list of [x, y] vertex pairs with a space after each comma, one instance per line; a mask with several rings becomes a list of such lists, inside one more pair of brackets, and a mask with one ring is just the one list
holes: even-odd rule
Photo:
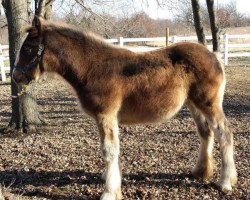
[[27, 33], [13, 79], [28, 84], [43, 72], [54, 72], [74, 88], [82, 108], [99, 128], [106, 164], [102, 200], [122, 198], [118, 124], [165, 121], [184, 104], [201, 141], [192, 174], [202, 179], [212, 176], [215, 135], [222, 156], [220, 186], [228, 191], [236, 184], [233, 135], [222, 108], [224, 68], [206, 47], [177, 43], [134, 53], [93, 34], [37, 17]]

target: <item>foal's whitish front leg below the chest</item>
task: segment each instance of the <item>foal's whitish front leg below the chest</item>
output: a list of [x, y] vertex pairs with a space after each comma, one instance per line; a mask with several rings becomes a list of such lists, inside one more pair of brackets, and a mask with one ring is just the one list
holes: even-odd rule
[[121, 173], [119, 168], [119, 130], [116, 115], [99, 114], [97, 124], [101, 137], [101, 150], [105, 162], [105, 190], [101, 200], [119, 200]]

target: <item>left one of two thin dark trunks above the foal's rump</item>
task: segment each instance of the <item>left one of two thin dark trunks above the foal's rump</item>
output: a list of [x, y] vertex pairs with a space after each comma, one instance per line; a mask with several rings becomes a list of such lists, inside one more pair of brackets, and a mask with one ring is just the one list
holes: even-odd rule
[[206, 38], [204, 34], [204, 28], [201, 23], [201, 16], [200, 16], [200, 4], [199, 0], [191, 0], [192, 1], [192, 9], [193, 9], [193, 17], [194, 17], [194, 26], [198, 41], [206, 45]]

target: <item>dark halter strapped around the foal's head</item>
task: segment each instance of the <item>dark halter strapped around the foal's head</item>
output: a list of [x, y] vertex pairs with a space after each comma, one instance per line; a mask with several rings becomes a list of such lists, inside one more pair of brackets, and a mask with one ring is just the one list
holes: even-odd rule
[[27, 67], [21, 67], [19, 65], [15, 65], [13, 70], [20, 71], [27, 79], [31, 77], [27, 74], [29, 71], [33, 70], [38, 64], [40, 66], [41, 71], [43, 71], [42, 63], [40, 63], [42, 58], [42, 53], [44, 50], [44, 45], [42, 44], [42, 39], [39, 39], [39, 46], [36, 56], [30, 61]]

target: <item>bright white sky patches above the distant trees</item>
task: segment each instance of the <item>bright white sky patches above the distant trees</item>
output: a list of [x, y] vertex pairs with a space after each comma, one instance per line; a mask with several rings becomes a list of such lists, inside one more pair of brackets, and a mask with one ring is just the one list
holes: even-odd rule
[[[214, 0], [215, 5], [217, 5], [217, 2], [219, 4], [226, 4], [230, 3], [232, 0]], [[237, 9], [241, 13], [245, 13], [246, 15], [250, 15], [250, 0], [235, 0]], [[137, 1], [139, 2], [139, 1]], [[200, 0], [201, 4], [205, 4], [205, 0]], [[138, 3], [139, 6], [139, 3]], [[170, 11], [166, 11], [166, 8], [159, 8], [157, 4], [155, 3], [155, 0], [148, 0], [148, 5], [142, 4], [143, 10], [153, 19], [157, 18], [169, 18], [173, 14]]]

